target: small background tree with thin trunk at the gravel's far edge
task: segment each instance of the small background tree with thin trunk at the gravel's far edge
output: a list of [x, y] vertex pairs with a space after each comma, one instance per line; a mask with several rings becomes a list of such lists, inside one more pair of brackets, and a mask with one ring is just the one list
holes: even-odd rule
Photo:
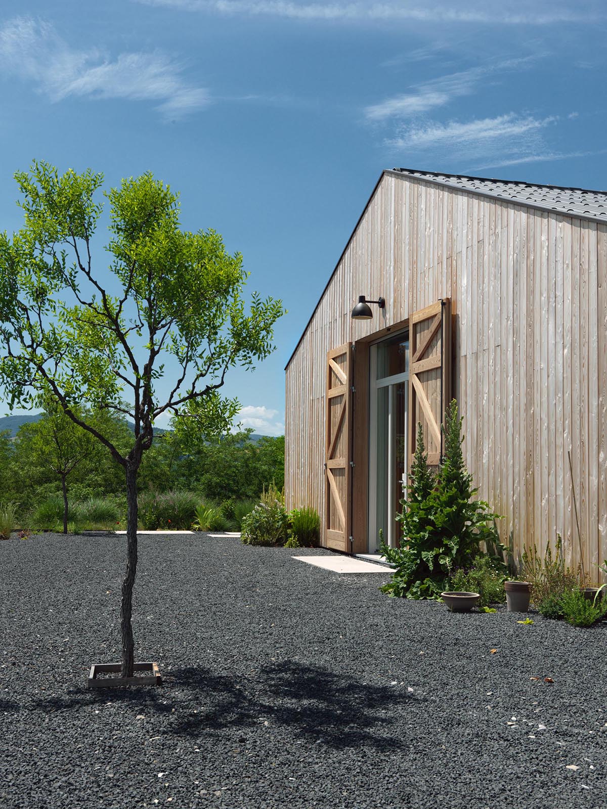
[[[74, 406], [74, 413], [85, 414]], [[63, 497], [63, 533], [67, 533], [67, 479], [83, 460], [96, 453], [96, 440], [64, 413], [61, 404], [46, 397], [45, 413], [39, 421], [24, 424], [18, 434], [19, 452], [29, 456], [32, 464], [49, 468], [59, 476]]]

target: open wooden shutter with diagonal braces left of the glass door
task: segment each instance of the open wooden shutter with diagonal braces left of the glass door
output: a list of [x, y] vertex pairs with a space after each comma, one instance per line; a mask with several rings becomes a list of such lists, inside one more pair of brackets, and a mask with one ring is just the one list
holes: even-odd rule
[[350, 553], [350, 343], [327, 354], [325, 546]]

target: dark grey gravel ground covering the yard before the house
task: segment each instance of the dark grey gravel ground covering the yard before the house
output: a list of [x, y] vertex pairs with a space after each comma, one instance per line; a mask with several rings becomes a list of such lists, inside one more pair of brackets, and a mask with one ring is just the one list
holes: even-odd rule
[[607, 807], [607, 625], [451, 614], [293, 553], [328, 552], [141, 536], [136, 659], [165, 684], [91, 692], [125, 538], [0, 543], [0, 806]]

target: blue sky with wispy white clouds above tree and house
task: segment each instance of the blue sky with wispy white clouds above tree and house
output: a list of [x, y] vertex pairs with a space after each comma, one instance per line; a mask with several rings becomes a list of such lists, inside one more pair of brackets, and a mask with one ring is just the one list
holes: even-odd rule
[[0, 17], [2, 229], [34, 158], [179, 190], [184, 227], [222, 233], [289, 310], [225, 389], [257, 432], [282, 432], [283, 367], [382, 169], [607, 187], [605, 2], [18, 9]]

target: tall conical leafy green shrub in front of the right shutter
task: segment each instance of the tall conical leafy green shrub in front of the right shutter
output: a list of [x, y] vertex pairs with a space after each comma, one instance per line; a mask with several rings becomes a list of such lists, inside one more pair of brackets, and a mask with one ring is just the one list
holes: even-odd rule
[[[389, 595], [438, 598], [451, 571], [469, 568], [482, 543], [499, 553], [507, 550], [495, 527], [499, 515], [489, 510], [488, 503], [473, 499], [478, 489], [473, 488], [461, 451], [462, 421], [452, 400], [445, 414], [444, 460], [436, 476], [428, 468], [422, 425], [418, 425], [410, 485], [397, 517], [405, 540], [401, 548], [388, 548], [383, 542], [380, 546], [396, 567], [392, 580], [381, 588]], [[503, 558], [496, 557], [495, 564], [503, 566]]]

